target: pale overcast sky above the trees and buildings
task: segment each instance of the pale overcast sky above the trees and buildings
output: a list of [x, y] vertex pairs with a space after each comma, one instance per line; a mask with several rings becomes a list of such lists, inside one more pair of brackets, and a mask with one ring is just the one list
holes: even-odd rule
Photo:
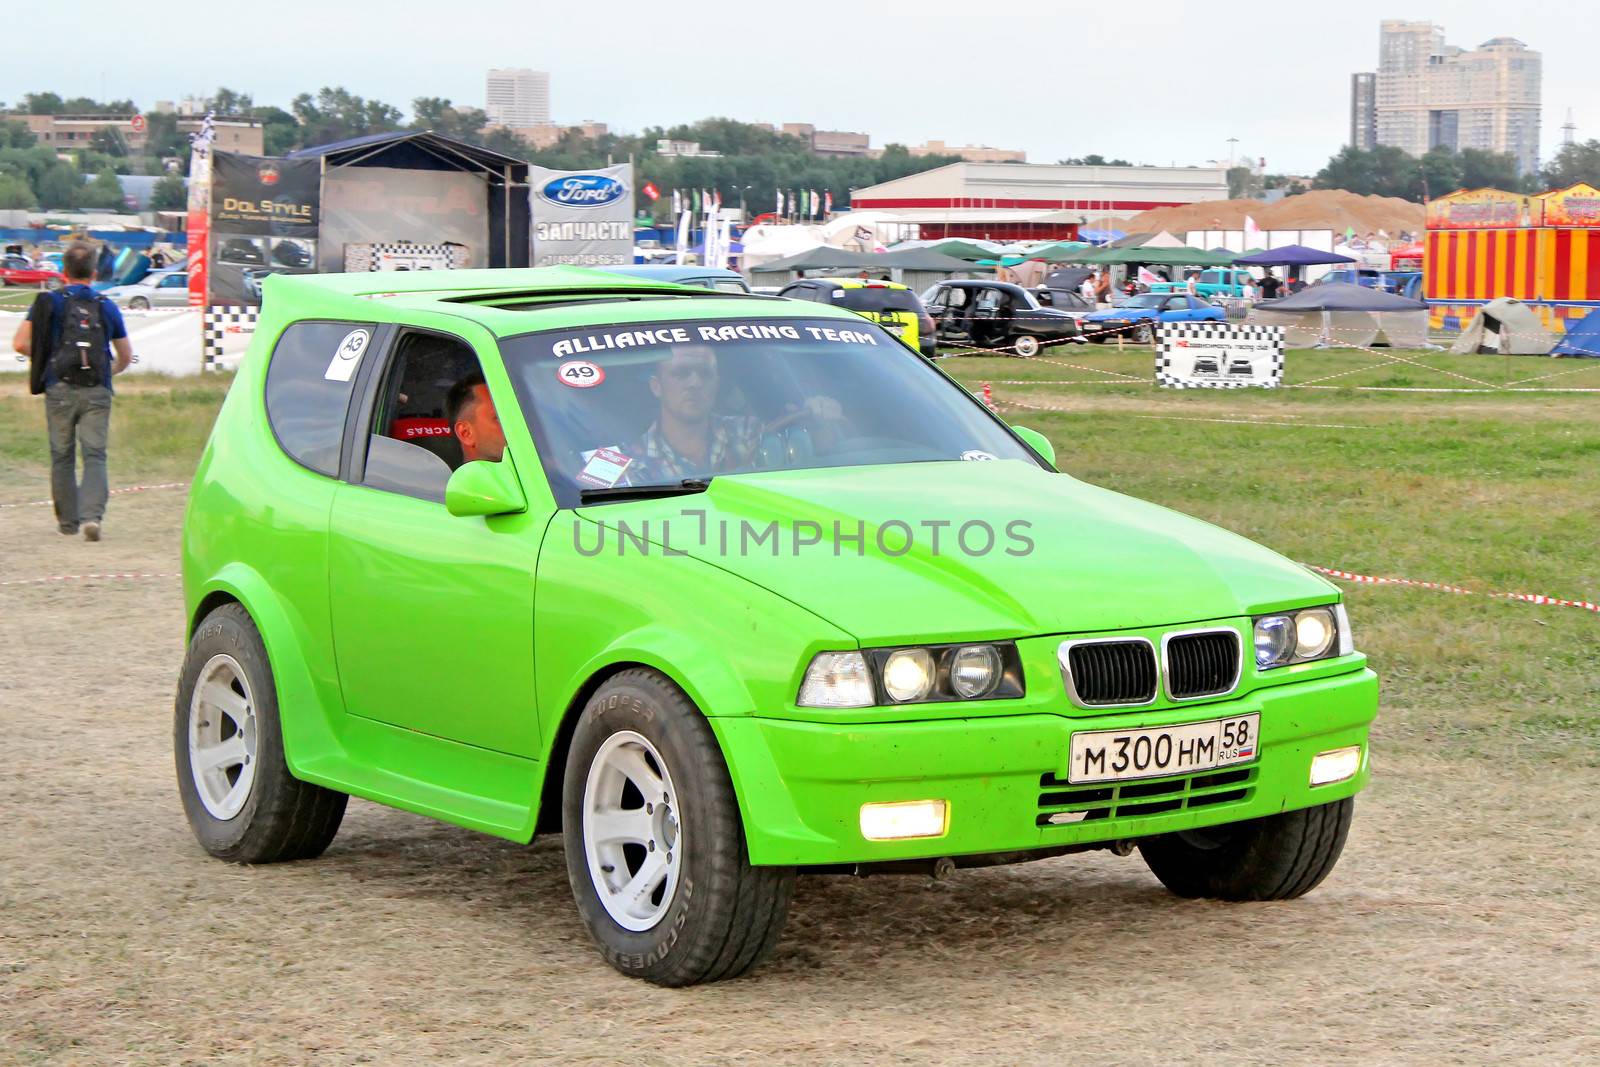
[[1442, 24], [1451, 45], [1507, 35], [1544, 53], [1544, 158], [1568, 107], [1579, 138], [1600, 138], [1600, 64], [1587, 6], [1571, 2], [88, 0], [74, 11], [70, 32], [54, 22], [70, 64], [32, 46], [51, 34], [32, 35], [8, 50], [0, 101], [53, 90], [149, 106], [227, 85], [288, 106], [342, 85], [403, 110], [416, 96], [482, 107], [488, 67], [533, 67], [550, 72], [555, 122], [618, 131], [728, 115], [858, 130], [875, 146], [1024, 149], [1037, 163], [1090, 152], [1205, 163], [1237, 138], [1270, 171], [1309, 174], [1349, 136], [1349, 75], [1376, 69], [1378, 22], [1406, 18]]

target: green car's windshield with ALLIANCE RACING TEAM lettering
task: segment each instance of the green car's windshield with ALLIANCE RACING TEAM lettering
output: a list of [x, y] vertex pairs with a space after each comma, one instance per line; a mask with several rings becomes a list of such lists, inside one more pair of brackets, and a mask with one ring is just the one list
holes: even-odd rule
[[501, 342], [563, 507], [584, 490], [755, 470], [1037, 462], [960, 386], [872, 323], [694, 320]]

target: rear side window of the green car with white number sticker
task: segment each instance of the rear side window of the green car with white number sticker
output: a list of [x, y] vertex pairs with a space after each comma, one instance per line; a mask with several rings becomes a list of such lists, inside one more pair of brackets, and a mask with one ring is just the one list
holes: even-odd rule
[[278, 338], [267, 365], [267, 424], [296, 462], [339, 475], [344, 416], [373, 323], [299, 322]]

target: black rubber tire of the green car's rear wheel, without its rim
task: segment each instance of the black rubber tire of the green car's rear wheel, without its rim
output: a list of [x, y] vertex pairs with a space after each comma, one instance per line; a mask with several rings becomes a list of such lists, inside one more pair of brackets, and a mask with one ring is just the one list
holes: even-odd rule
[[[226, 654], [238, 664], [254, 709], [254, 782], [243, 808], [227, 819], [213, 816], [200, 797], [189, 761], [189, 717], [195, 685], [213, 657]], [[195, 627], [189, 654], [178, 680], [173, 720], [173, 757], [178, 795], [200, 846], [218, 859], [235, 864], [277, 864], [320, 856], [339, 832], [344, 805], [341, 792], [302, 782], [290, 774], [283, 758], [278, 725], [278, 691], [272, 665], [250, 613], [242, 605], [222, 605]]]

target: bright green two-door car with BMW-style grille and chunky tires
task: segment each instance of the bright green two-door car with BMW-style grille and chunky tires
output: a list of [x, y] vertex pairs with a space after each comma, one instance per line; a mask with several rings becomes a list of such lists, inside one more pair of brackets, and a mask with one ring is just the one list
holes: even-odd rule
[[208, 853], [317, 856], [350, 795], [560, 833], [603, 957], [664, 985], [766, 957], [800, 872], [1139, 849], [1294, 897], [1370, 773], [1333, 585], [1058, 474], [822, 304], [274, 275], [182, 569]]

